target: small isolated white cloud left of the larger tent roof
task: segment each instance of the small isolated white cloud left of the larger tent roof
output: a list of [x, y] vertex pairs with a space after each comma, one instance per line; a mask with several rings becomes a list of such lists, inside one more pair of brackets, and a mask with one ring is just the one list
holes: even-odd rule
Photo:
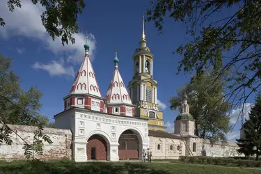
[[65, 67], [63, 61], [58, 63], [57, 61], [51, 61], [48, 64], [34, 63], [32, 66], [35, 70], [45, 70], [49, 72], [51, 76], [55, 75], [68, 75], [74, 77], [75, 73], [72, 66]]

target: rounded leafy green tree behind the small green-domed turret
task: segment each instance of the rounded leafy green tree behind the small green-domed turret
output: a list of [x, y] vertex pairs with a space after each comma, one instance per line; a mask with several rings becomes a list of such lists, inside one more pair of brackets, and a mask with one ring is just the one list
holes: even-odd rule
[[212, 143], [226, 142], [226, 134], [230, 131], [230, 104], [222, 101], [225, 84], [221, 78], [210, 88], [205, 88], [207, 83], [212, 83], [214, 74], [204, 72], [200, 76], [191, 78], [189, 84], [177, 90], [177, 95], [170, 98], [171, 109], [180, 108], [184, 93], [188, 96], [189, 112], [195, 119], [195, 134], [202, 139], [209, 139]]

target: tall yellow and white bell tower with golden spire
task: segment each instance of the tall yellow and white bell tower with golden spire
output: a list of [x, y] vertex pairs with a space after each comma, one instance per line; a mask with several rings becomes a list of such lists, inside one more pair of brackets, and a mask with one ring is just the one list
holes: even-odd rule
[[157, 104], [157, 81], [153, 79], [153, 54], [147, 47], [144, 32], [144, 15], [142, 38], [139, 42], [139, 48], [135, 50], [134, 76], [129, 81], [129, 94], [132, 98], [132, 104], [136, 105], [136, 116], [149, 118], [148, 127], [151, 130], [166, 131], [164, 127], [163, 112], [159, 111]]

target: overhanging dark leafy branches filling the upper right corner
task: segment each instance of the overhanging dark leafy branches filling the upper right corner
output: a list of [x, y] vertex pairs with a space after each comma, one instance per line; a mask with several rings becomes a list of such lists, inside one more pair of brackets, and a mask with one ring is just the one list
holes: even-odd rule
[[212, 67], [219, 70], [216, 72], [219, 77], [230, 71], [230, 77], [226, 77], [230, 89], [226, 97], [234, 106], [245, 103], [258, 91], [261, 86], [260, 1], [155, 0], [151, 4], [147, 21], [154, 22], [160, 33], [166, 16], [187, 26], [191, 40], [175, 51], [183, 55], [177, 74], [193, 70], [200, 73]]

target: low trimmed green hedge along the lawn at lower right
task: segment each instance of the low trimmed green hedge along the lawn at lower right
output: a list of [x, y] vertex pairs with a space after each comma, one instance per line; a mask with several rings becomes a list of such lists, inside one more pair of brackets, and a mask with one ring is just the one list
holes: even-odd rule
[[180, 157], [180, 161], [192, 164], [212, 164], [221, 166], [261, 167], [261, 161], [237, 159], [237, 157]]

